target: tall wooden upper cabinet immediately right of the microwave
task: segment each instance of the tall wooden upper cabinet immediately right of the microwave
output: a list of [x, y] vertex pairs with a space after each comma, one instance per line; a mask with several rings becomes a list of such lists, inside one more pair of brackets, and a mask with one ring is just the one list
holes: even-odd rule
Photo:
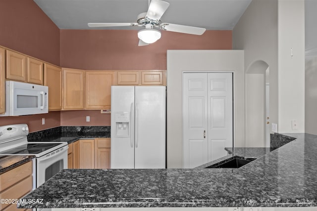
[[61, 110], [61, 68], [44, 64], [44, 85], [49, 86], [49, 111]]

